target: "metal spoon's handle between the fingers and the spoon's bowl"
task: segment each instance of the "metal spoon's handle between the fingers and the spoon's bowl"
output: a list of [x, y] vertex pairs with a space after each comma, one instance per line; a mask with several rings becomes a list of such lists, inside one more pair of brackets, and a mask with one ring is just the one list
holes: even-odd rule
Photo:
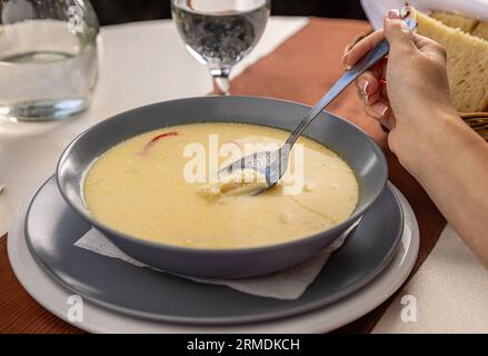
[[381, 58], [388, 55], [390, 46], [386, 39], [381, 40], [374, 49], [362, 57], [350, 70], [343, 72], [342, 77], [329, 89], [329, 91], [311, 108], [297, 128], [291, 132], [290, 137], [286, 141], [291, 146], [297, 141], [298, 137], [310, 125], [311, 121], [346, 89], [352, 81], [355, 81], [360, 75], [367, 71], [371, 66], [376, 65]]

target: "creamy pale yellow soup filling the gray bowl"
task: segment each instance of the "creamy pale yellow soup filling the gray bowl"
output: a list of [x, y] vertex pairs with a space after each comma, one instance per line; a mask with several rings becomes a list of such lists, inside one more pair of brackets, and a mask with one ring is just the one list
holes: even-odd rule
[[278, 244], [347, 219], [358, 201], [356, 176], [337, 154], [308, 138], [291, 150], [282, 181], [261, 195], [251, 196], [248, 188], [255, 185], [241, 181], [257, 178], [252, 174], [217, 178], [221, 165], [238, 158], [232, 155], [263, 150], [287, 137], [279, 129], [242, 123], [142, 134], [93, 162], [84, 201], [96, 219], [116, 230], [193, 248]]

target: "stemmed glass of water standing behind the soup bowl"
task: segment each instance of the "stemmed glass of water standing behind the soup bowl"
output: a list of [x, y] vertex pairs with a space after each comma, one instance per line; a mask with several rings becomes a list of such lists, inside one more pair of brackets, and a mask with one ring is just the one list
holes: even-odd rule
[[172, 0], [172, 17], [187, 49], [206, 65], [216, 89], [229, 93], [229, 75], [256, 46], [269, 0]]

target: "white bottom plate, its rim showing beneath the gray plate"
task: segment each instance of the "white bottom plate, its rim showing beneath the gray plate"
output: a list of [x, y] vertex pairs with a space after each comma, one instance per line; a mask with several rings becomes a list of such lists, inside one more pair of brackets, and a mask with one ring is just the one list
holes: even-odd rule
[[394, 191], [401, 201], [405, 227], [399, 250], [390, 265], [374, 281], [345, 299], [313, 313], [270, 323], [223, 327], [165, 324], [131, 318], [89, 301], [83, 303], [83, 320], [69, 322], [70, 291], [42, 271], [26, 245], [23, 221], [27, 204], [19, 209], [13, 220], [8, 237], [8, 254], [14, 274], [39, 304], [61, 319], [91, 333], [325, 333], [341, 327], [380, 305], [404, 284], [414, 267], [419, 248], [417, 220], [406, 198], [395, 187]]

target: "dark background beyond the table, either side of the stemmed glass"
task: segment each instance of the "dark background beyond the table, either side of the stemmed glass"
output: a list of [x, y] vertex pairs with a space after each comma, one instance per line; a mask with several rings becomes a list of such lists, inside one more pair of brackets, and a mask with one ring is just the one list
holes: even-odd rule
[[[100, 24], [168, 19], [169, 0], [91, 0]], [[365, 19], [359, 0], [273, 0], [271, 14]]]

